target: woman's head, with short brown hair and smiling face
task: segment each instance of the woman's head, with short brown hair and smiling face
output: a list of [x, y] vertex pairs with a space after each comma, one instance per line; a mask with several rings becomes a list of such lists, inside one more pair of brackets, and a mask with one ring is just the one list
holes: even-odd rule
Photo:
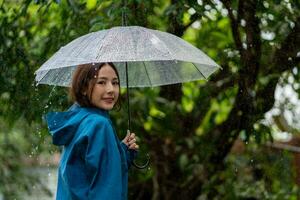
[[[114, 105], [120, 108], [119, 92], [119, 74], [113, 63], [79, 65], [73, 75], [70, 88], [73, 101], [84, 107], [96, 106], [105, 109], [104, 100], [108, 102], [112, 100], [113, 104], [105, 110], [112, 109]], [[100, 97], [97, 97], [98, 95]]]

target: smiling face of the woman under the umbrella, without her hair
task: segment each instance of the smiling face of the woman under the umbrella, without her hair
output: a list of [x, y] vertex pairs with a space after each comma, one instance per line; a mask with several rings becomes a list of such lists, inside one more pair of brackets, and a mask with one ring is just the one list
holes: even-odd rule
[[111, 110], [119, 98], [119, 79], [114, 69], [105, 64], [98, 72], [91, 94], [91, 103], [97, 108]]

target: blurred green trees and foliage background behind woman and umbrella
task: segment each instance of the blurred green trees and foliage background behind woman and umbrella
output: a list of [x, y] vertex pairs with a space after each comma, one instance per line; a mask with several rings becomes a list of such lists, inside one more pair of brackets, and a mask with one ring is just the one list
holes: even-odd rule
[[[89, 32], [175, 34], [222, 70], [208, 81], [131, 90], [132, 131], [150, 166], [129, 199], [300, 199], [298, 0], [0, 0], [0, 200], [54, 199], [61, 149], [43, 115], [72, 103], [34, 71]], [[188, 52], [187, 52], [188, 53]], [[123, 108], [112, 111], [120, 138]], [[143, 162], [141, 159], [140, 162]]]

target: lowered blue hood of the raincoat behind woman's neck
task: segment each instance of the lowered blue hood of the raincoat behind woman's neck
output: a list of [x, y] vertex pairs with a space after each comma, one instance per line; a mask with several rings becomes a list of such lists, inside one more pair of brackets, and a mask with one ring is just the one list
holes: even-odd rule
[[52, 135], [53, 144], [57, 146], [68, 145], [72, 141], [79, 124], [90, 112], [109, 117], [107, 111], [96, 108], [82, 108], [77, 103], [66, 112], [48, 113], [46, 121]]

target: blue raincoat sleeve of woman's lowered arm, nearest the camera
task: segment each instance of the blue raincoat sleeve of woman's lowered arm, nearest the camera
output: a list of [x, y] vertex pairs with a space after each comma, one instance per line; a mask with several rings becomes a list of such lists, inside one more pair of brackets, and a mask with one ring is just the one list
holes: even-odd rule
[[[122, 167], [116, 136], [107, 120], [87, 122], [88, 146], [85, 155], [88, 199], [123, 199]], [[127, 188], [126, 188], [127, 189]]]

